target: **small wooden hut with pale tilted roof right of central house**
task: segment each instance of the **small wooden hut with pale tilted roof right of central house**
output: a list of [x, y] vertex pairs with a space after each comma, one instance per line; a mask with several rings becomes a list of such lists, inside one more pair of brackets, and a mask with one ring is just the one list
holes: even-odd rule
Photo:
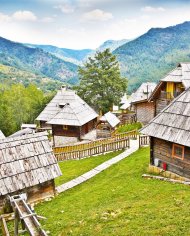
[[108, 138], [111, 137], [112, 132], [115, 130], [120, 120], [112, 112], [104, 114], [98, 122], [96, 127], [97, 138]]

